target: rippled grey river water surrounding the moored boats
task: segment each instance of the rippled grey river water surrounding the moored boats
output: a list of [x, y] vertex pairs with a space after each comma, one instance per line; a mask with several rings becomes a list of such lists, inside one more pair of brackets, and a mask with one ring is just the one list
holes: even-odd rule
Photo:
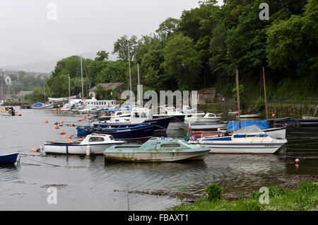
[[[66, 137], [76, 134], [76, 128], [54, 129], [54, 122], [78, 124], [83, 115], [16, 110], [22, 116], [0, 116], [0, 152], [20, 153], [18, 165], [0, 166], [0, 210], [163, 210], [179, 200], [127, 195], [125, 190], [195, 194], [217, 182], [225, 192], [243, 192], [281, 184], [273, 175], [318, 174], [317, 127], [288, 128], [288, 145], [273, 155], [209, 154], [204, 161], [187, 163], [105, 163], [103, 156], [31, 151], [45, 141], [69, 142]], [[60, 134], [62, 130], [66, 135]], [[184, 139], [186, 134], [186, 124], [170, 123], [168, 137]], [[300, 158], [298, 168], [295, 158]], [[57, 204], [47, 203], [49, 187], [57, 188]]]

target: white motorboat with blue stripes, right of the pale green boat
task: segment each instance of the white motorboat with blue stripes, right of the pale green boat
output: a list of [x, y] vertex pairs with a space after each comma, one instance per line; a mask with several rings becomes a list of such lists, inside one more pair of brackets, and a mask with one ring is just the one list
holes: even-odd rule
[[230, 136], [204, 137], [197, 144], [209, 147], [211, 153], [273, 154], [287, 144], [287, 139], [273, 139], [253, 125]]

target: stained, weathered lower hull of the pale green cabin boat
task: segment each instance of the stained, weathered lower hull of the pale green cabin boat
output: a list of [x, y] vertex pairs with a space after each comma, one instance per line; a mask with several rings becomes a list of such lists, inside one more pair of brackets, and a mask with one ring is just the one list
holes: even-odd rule
[[134, 162], [175, 162], [175, 161], [196, 161], [204, 160], [209, 151], [199, 152], [174, 152], [174, 153], [147, 153], [147, 152], [129, 152], [129, 153], [104, 153], [105, 161], [134, 161]]

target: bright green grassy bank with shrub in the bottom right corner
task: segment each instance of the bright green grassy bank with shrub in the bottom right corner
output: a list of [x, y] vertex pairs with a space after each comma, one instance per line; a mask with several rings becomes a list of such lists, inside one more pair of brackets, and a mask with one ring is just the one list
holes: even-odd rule
[[318, 210], [318, 183], [300, 183], [295, 190], [288, 188], [269, 188], [269, 204], [261, 204], [265, 192], [252, 191], [250, 197], [226, 200], [223, 190], [216, 184], [206, 188], [206, 197], [193, 204], [181, 204], [171, 211], [287, 211]]

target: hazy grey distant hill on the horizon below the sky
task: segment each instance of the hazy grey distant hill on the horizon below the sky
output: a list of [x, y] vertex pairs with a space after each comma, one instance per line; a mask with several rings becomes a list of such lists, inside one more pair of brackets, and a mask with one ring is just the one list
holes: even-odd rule
[[[81, 55], [85, 59], [95, 59], [96, 57], [96, 52], [85, 52]], [[71, 55], [67, 56], [70, 57]], [[64, 58], [67, 58], [64, 57]], [[62, 59], [62, 58], [61, 58]], [[33, 71], [33, 72], [40, 72], [40, 73], [51, 73], [51, 71], [54, 70], [54, 67], [57, 65], [57, 62], [61, 59], [55, 59], [52, 61], [48, 62], [33, 62], [33, 63], [28, 63], [28, 64], [19, 64], [19, 65], [14, 65], [10, 67], [0, 67], [5, 70], [10, 70], [10, 71]], [[115, 57], [110, 54], [110, 59], [115, 60]]]

